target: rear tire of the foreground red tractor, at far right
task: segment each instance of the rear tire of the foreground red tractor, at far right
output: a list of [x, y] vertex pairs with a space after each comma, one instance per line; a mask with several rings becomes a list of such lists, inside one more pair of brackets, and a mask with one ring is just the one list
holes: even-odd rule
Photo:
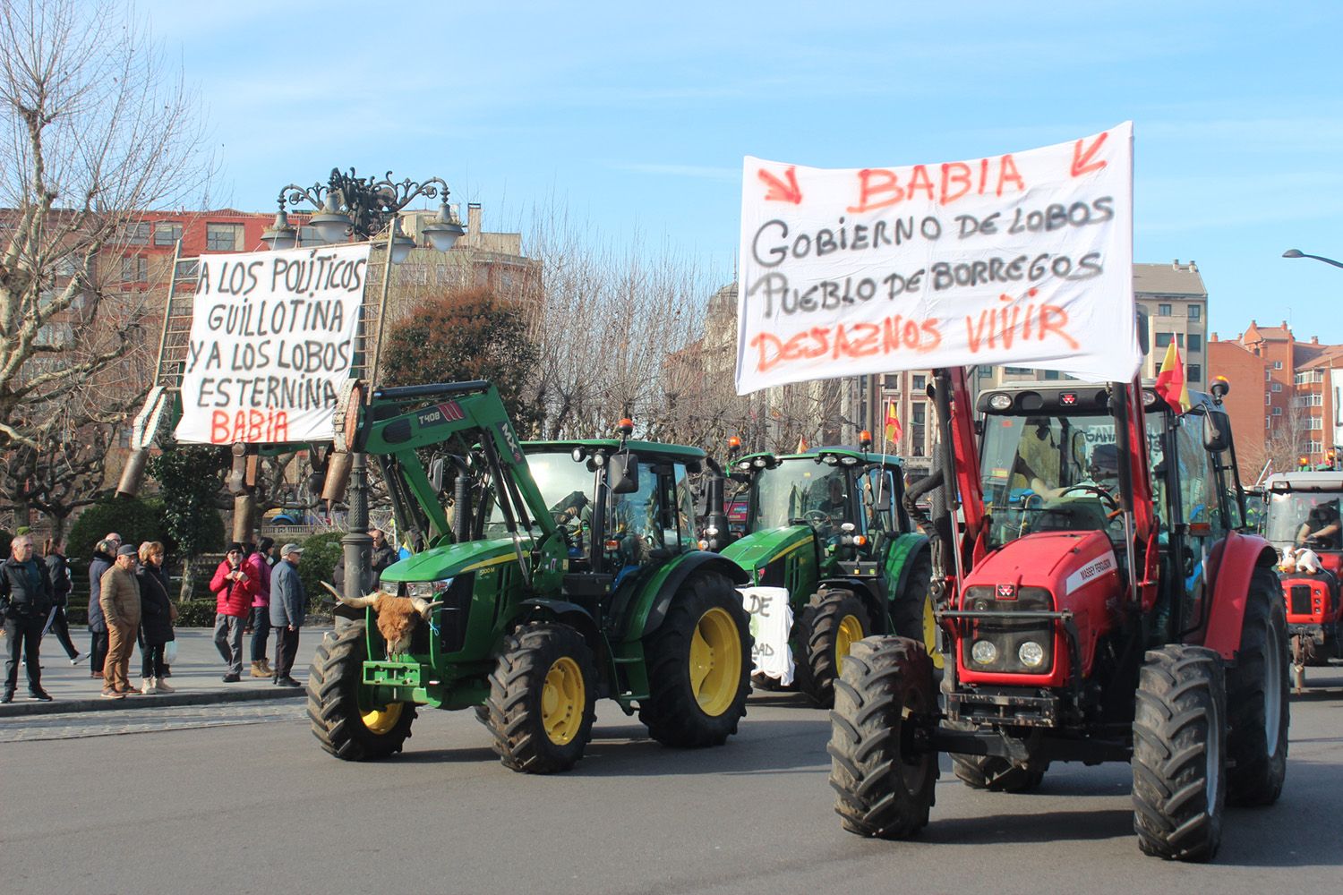
[[1272, 805], [1287, 778], [1287, 608], [1272, 569], [1254, 569], [1241, 648], [1226, 672], [1226, 801]]

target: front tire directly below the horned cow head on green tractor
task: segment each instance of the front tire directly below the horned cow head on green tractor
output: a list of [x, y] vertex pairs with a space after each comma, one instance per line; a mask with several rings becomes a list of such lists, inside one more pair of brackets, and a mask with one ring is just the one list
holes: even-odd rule
[[344, 761], [373, 761], [402, 750], [415, 703], [373, 706], [364, 679], [364, 621], [317, 644], [308, 668], [308, 719], [322, 749]]

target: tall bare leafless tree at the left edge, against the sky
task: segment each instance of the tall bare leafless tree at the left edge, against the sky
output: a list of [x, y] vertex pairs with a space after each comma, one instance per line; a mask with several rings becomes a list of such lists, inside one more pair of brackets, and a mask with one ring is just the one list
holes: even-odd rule
[[196, 105], [129, 7], [0, 0], [0, 451], [27, 452], [23, 487], [60, 480], [21, 498], [58, 518], [86, 496], [58, 494], [71, 474], [101, 479], [77, 455], [150, 378], [157, 314], [107, 262], [208, 169]]

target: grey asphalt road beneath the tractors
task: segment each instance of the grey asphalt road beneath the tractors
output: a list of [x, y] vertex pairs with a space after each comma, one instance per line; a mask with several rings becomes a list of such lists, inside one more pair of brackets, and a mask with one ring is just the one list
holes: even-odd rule
[[298, 704], [11, 718], [0, 891], [1339, 891], [1343, 672], [1312, 683], [1281, 801], [1229, 810], [1211, 865], [1142, 856], [1127, 765], [1056, 766], [1022, 796], [944, 765], [917, 839], [845, 833], [827, 718], [792, 695], [753, 695], [741, 733], [700, 751], [604, 703], [584, 761], [555, 777], [504, 769], [469, 713], [423, 715], [406, 754], [368, 765], [322, 753]]

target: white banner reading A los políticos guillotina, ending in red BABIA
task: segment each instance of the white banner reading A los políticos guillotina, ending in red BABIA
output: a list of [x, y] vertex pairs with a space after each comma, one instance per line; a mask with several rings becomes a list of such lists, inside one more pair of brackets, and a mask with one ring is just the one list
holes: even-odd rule
[[330, 441], [368, 243], [201, 255], [179, 441]]

